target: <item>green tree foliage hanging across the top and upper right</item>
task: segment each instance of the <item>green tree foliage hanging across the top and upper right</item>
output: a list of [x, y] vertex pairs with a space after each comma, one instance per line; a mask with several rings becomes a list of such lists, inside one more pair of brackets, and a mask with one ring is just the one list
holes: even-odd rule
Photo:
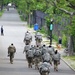
[[[75, 13], [75, 0], [4, 0], [4, 4], [9, 2], [15, 3], [18, 9], [25, 15], [29, 15], [34, 10], [40, 10], [49, 16], [46, 17], [47, 24], [53, 18], [56, 22], [60, 22], [61, 17], [70, 18], [72, 13]], [[61, 10], [60, 10], [61, 9]], [[62, 11], [64, 10], [64, 11]], [[54, 15], [58, 16], [57, 19]], [[70, 15], [69, 15], [70, 14]], [[74, 14], [75, 15], [75, 14]], [[71, 24], [67, 25], [68, 35], [75, 37], [75, 16], [71, 20]], [[66, 26], [65, 26], [66, 27]]]

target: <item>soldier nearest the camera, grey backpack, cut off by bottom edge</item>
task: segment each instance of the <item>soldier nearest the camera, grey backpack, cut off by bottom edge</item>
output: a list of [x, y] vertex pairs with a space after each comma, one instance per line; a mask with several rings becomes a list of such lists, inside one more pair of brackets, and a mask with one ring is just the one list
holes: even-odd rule
[[40, 75], [49, 75], [49, 73], [50, 73], [50, 63], [43, 62], [42, 64], [40, 64], [39, 65], [39, 72], [40, 72]]

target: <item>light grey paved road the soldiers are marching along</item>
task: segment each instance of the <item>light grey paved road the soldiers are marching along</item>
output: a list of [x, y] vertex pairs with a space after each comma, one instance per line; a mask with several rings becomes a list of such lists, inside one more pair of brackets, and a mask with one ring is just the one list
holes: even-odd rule
[[[17, 11], [11, 8], [9, 11], [5, 10], [0, 18], [0, 25], [4, 26], [4, 36], [0, 36], [0, 75], [39, 75], [34, 66], [32, 69], [27, 67], [27, 61], [23, 54], [23, 38], [28, 30], [26, 22], [22, 22]], [[33, 34], [33, 31], [31, 33]], [[7, 57], [7, 47], [11, 43], [14, 43], [17, 48], [14, 64], [10, 64]], [[34, 39], [32, 44], [35, 44]], [[50, 75], [75, 75], [75, 72], [61, 61], [58, 72], [54, 72], [53, 66], [51, 66]]]

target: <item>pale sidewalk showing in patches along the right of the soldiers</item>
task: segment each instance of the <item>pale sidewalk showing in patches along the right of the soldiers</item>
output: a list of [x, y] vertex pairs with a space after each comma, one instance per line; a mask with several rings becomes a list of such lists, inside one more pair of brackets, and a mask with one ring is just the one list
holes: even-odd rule
[[[33, 32], [33, 33], [36, 32], [36, 31], [33, 30], [33, 28], [28, 28], [28, 30], [31, 31], [31, 32]], [[44, 36], [44, 35], [42, 34], [42, 36]], [[42, 44], [44, 44], [44, 43], [46, 45], [49, 45], [50, 40], [47, 39], [46, 37], [43, 37]], [[64, 63], [67, 64], [73, 71], [75, 71], [75, 68], [71, 65], [71, 63], [73, 63], [73, 61], [71, 61], [71, 60], [68, 61], [68, 60], [66, 60], [66, 59], [63, 58], [64, 48], [58, 49], [57, 46], [56, 46], [56, 42], [54, 42], [54, 41], [52, 42], [52, 46], [60, 52], [60, 54], [62, 56], [61, 59], [64, 61]]]

